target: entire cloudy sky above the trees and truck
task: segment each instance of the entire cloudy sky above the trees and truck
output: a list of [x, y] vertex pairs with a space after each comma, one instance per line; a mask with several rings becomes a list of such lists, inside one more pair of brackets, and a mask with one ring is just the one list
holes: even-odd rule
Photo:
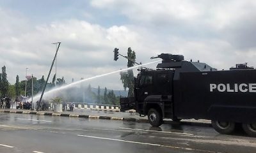
[[[46, 78], [57, 41], [57, 78], [68, 84], [126, 68], [113, 61], [115, 47], [123, 55], [131, 47], [142, 63], [169, 53], [217, 69], [256, 66], [255, 18], [254, 0], [0, 0], [0, 66], [11, 84], [26, 68]], [[122, 89], [119, 73], [90, 84]]]

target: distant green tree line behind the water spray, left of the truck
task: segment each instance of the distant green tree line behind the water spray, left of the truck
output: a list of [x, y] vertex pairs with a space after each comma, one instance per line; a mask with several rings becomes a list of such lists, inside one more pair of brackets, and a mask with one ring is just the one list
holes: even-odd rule
[[[9, 96], [12, 99], [19, 97], [20, 95], [32, 96], [32, 79], [33, 79], [33, 96], [40, 94], [45, 85], [44, 75], [42, 78], [38, 79], [32, 77], [31, 79], [21, 80], [19, 75], [16, 76], [16, 82], [14, 85], [10, 84], [7, 79], [6, 66], [2, 67], [2, 72], [0, 73], [0, 97]], [[72, 82], [74, 79], [72, 78]], [[26, 85], [27, 84], [27, 85]], [[45, 91], [50, 91], [54, 87], [61, 87], [66, 85], [64, 77], [56, 78], [56, 75], [52, 78], [52, 82], [47, 83]], [[26, 87], [27, 86], [27, 87]], [[101, 103], [106, 105], [119, 105], [120, 96], [116, 96], [114, 91], [108, 91], [105, 87], [104, 94], [100, 93], [100, 86], [98, 86], [97, 93], [92, 91], [92, 87], [89, 84], [88, 87], [70, 87], [61, 92], [58, 92], [55, 96], [60, 97], [63, 101], [70, 102], [80, 102], [80, 103]]]

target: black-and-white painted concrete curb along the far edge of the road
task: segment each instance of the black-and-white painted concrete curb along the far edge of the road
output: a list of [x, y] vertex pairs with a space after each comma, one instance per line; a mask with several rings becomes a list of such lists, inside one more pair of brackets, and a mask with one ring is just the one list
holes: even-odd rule
[[[148, 122], [147, 119], [135, 119], [135, 118], [127, 118], [127, 117], [109, 117], [109, 116], [97, 116], [97, 115], [79, 115], [79, 114], [69, 114], [69, 113], [51, 113], [51, 112], [35, 112], [35, 111], [12, 111], [12, 110], [0, 110], [3, 113], [26, 113], [32, 115], [49, 115], [56, 117], [81, 117], [84, 119], [104, 119], [104, 120], [122, 120], [128, 122]], [[187, 125], [187, 126], [202, 126], [202, 127], [211, 127], [210, 123], [207, 122], [189, 122], [189, 121], [169, 121], [164, 120], [164, 124], [172, 124], [172, 125]]]

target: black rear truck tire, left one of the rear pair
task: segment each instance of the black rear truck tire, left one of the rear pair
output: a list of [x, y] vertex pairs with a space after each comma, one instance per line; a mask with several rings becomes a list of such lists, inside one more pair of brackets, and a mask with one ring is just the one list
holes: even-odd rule
[[234, 122], [225, 122], [220, 120], [212, 120], [212, 128], [214, 128], [218, 133], [228, 135], [235, 130]]

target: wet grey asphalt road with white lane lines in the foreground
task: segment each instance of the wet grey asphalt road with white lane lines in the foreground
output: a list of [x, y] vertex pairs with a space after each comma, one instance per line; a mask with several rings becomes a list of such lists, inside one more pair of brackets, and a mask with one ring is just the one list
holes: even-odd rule
[[0, 152], [256, 152], [256, 138], [197, 126], [0, 113]]

